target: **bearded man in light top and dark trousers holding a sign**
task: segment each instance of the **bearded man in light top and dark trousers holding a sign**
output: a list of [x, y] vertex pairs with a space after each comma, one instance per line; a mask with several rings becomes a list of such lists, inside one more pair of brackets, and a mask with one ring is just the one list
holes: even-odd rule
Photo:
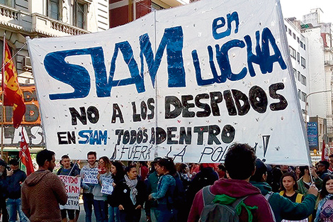
[[[94, 184], [97, 184], [97, 167], [98, 162], [96, 162], [96, 152], [90, 151], [87, 153], [88, 164], [82, 167], [81, 176], [81, 187], [84, 190], [83, 201], [84, 201], [84, 211], [86, 212], [86, 222], [91, 222], [91, 214], [94, 205], [94, 195], [92, 194], [92, 189]], [[96, 176], [94, 176], [96, 175]], [[89, 177], [92, 178], [89, 178]]]

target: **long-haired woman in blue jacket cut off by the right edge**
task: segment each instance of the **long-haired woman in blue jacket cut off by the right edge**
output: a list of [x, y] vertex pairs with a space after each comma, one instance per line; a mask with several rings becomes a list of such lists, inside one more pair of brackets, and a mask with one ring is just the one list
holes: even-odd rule
[[333, 175], [324, 177], [315, 222], [333, 221]]

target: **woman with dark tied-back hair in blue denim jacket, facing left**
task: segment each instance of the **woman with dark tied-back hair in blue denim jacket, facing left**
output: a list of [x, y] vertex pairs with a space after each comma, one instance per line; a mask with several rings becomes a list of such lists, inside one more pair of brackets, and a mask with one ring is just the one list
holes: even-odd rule
[[174, 189], [176, 179], [172, 176], [176, 173], [174, 161], [171, 158], [162, 158], [155, 167], [159, 174], [157, 192], [149, 194], [149, 200], [157, 200], [158, 222], [176, 221], [176, 209], [174, 209]]

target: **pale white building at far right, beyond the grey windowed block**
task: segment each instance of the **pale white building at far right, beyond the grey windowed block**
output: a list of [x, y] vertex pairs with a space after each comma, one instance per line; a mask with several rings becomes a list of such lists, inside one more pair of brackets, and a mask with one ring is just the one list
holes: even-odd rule
[[332, 24], [321, 23], [320, 13], [321, 9], [313, 9], [303, 16], [302, 33], [310, 43], [308, 116], [326, 119], [327, 125], [327, 128], [322, 129], [321, 148], [323, 140], [333, 146], [333, 45]]

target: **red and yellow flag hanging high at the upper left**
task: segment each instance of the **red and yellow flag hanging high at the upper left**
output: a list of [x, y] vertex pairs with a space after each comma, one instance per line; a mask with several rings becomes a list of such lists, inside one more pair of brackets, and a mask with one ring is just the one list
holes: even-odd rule
[[2, 91], [4, 93], [4, 106], [13, 106], [13, 126], [20, 126], [24, 113], [26, 113], [26, 104], [24, 104], [23, 93], [18, 84], [17, 72], [14, 62], [11, 58], [11, 51], [7, 43], [4, 50], [4, 63], [2, 69]]

